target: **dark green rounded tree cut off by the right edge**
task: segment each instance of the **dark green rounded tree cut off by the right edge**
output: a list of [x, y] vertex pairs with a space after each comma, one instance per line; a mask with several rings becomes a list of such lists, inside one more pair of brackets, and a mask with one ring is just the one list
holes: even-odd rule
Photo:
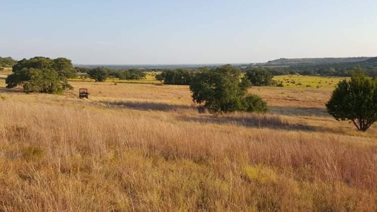
[[339, 120], [350, 120], [366, 131], [377, 121], [377, 80], [356, 70], [351, 80], [341, 81], [326, 104], [328, 112]]

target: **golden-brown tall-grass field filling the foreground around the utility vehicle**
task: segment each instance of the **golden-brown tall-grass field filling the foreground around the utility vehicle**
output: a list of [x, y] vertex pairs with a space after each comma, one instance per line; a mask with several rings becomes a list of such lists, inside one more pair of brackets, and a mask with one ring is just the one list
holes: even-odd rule
[[0, 210], [377, 210], [377, 126], [330, 117], [329, 88], [253, 87], [271, 112], [214, 116], [187, 86], [70, 84], [0, 80]]

